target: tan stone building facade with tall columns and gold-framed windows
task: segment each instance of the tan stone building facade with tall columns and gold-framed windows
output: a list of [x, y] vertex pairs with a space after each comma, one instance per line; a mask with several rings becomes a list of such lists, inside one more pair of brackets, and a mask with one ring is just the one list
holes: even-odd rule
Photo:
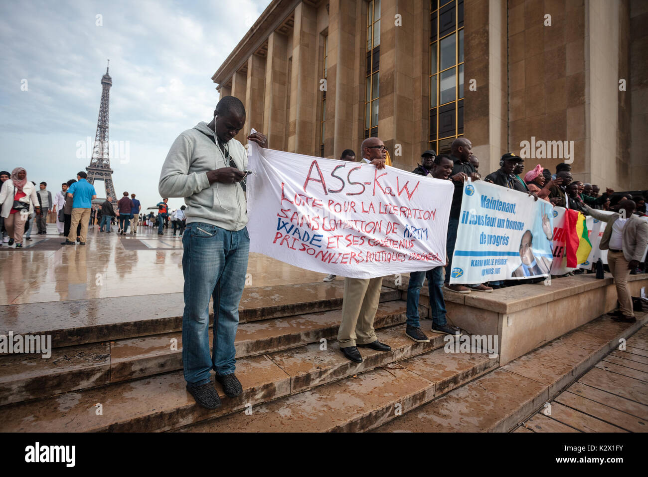
[[527, 170], [571, 156], [579, 180], [640, 190], [647, 21], [643, 0], [273, 0], [212, 79], [246, 106], [238, 139], [273, 149], [339, 158], [379, 136], [411, 170], [465, 136], [489, 173], [528, 141]]

